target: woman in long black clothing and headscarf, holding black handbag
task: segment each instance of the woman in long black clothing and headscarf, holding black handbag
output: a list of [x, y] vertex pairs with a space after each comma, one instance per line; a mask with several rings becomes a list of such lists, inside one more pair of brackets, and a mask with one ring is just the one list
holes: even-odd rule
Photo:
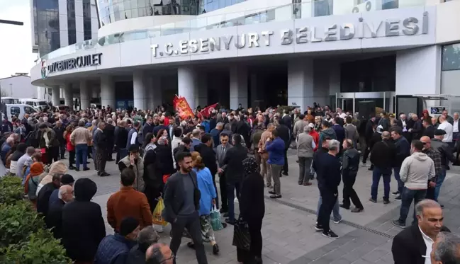
[[259, 173], [257, 161], [249, 157], [242, 161], [245, 178], [240, 193], [240, 217], [247, 222], [251, 245], [249, 251], [237, 248], [240, 263], [262, 263], [262, 219], [265, 214], [264, 178]]

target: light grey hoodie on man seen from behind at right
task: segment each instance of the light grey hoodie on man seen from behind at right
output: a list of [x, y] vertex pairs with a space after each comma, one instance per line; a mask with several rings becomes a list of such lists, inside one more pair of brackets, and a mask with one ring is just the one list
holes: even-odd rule
[[434, 162], [427, 154], [414, 152], [404, 159], [399, 174], [405, 188], [425, 190], [428, 186], [428, 179], [435, 175]]

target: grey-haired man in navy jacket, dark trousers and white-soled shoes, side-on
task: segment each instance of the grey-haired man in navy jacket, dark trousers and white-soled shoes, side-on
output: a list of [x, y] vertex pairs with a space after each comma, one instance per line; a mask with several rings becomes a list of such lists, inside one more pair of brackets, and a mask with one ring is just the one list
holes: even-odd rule
[[340, 185], [340, 161], [337, 154], [340, 151], [340, 142], [335, 139], [329, 142], [329, 152], [315, 155], [313, 168], [317, 173], [318, 188], [322, 197], [322, 203], [318, 213], [318, 224], [315, 226], [316, 231], [322, 231], [322, 236], [330, 239], [337, 239], [329, 226], [330, 214], [334, 208], [335, 202], [339, 195]]

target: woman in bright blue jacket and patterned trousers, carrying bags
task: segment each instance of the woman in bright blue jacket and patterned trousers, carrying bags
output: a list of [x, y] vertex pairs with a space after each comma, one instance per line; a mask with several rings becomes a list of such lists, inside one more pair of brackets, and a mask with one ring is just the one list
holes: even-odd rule
[[[217, 255], [219, 253], [219, 246], [215, 242], [215, 236], [213, 226], [211, 225], [211, 208], [215, 205], [215, 193], [213, 176], [211, 171], [203, 163], [203, 159], [197, 151], [193, 151], [191, 154], [191, 161], [193, 171], [196, 172], [196, 179], [198, 182], [198, 189], [200, 190], [200, 224], [201, 224], [201, 237], [203, 242], [211, 243], [213, 247], [213, 253]], [[187, 246], [194, 248], [193, 242], [187, 243]]]

